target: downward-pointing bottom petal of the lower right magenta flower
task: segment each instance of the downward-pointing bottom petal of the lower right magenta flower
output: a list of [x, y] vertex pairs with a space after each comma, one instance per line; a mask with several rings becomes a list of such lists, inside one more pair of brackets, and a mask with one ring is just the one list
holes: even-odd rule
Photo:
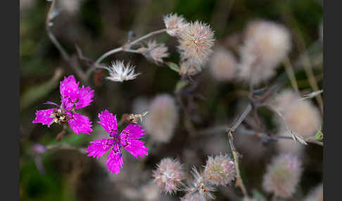
[[122, 168], [123, 166], [123, 161], [118, 144], [115, 144], [110, 150], [106, 165], [108, 166], [108, 171], [110, 171], [110, 174], [113, 174], [113, 171], [115, 172], [115, 174], [118, 174], [120, 172], [120, 168]]

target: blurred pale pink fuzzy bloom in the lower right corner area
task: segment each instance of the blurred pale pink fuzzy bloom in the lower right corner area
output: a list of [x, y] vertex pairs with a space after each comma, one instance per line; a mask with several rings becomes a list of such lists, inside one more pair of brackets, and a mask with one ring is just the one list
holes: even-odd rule
[[262, 187], [279, 197], [291, 197], [302, 174], [301, 162], [296, 155], [281, 154], [267, 166]]

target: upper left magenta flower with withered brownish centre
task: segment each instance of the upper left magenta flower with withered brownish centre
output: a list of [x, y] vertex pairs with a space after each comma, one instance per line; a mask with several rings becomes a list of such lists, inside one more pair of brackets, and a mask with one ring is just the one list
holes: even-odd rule
[[91, 129], [89, 118], [80, 115], [76, 110], [90, 105], [91, 101], [93, 101], [94, 90], [91, 90], [89, 86], [85, 88], [84, 86], [79, 87], [79, 84], [73, 75], [64, 77], [59, 87], [61, 91], [61, 105], [52, 102], [44, 103], [55, 105], [57, 108], [37, 110], [36, 119], [33, 120], [33, 123], [46, 124], [48, 127], [53, 123], [68, 123], [76, 134], [90, 134], [93, 130]]

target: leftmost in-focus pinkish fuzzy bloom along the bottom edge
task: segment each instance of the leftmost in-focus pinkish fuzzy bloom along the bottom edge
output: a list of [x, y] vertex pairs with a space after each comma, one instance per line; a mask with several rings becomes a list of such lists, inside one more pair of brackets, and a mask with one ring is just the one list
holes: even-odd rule
[[173, 194], [182, 186], [185, 177], [183, 164], [179, 160], [167, 157], [157, 164], [153, 171], [154, 182], [163, 192]]

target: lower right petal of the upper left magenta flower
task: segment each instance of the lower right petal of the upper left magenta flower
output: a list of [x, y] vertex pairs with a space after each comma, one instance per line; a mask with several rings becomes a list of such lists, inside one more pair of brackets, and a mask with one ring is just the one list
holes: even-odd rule
[[70, 119], [68, 120], [68, 123], [72, 129], [72, 131], [75, 132], [75, 134], [79, 133], [85, 133], [90, 135], [90, 132], [93, 131], [91, 129], [91, 122], [89, 121], [89, 118], [84, 115], [80, 115], [76, 112], [67, 112]]

